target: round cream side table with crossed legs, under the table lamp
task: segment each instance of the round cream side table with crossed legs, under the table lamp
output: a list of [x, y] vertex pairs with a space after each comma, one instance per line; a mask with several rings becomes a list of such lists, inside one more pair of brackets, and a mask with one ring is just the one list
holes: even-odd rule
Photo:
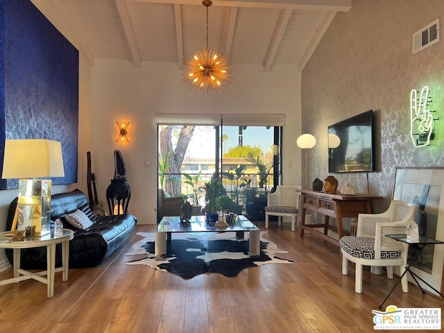
[[[12, 248], [14, 258], [14, 278], [0, 280], [0, 286], [10, 283], [34, 279], [47, 285], [47, 296], [54, 296], [54, 274], [62, 273], [62, 280], [68, 280], [69, 241], [73, 239], [74, 232], [63, 229], [63, 235], [55, 236], [46, 234], [42, 237], [26, 237], [24, 241], [11, 241], [12, 237], [5, 237], [6, 232], [0, 232], [0, 248]], [[62, 244], [62, 266], [56, 268], [56, 245]], [[40, 248], [46, 246], [46, 271], [30, 272], [20, 268], [20, 252], [22, 248]], [[46, 275], [46, 278], [44, 278]]]

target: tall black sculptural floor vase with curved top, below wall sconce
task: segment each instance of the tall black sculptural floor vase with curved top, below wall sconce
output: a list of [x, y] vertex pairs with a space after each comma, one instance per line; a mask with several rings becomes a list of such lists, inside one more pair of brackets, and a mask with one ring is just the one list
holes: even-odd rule
[[[106, 189], [106, 199], [110, 215], [128, 214], [131, 187], [126, 180], [126, 166], [120, 151], [114, 151], [114, 179]], [[117, 203], [114, 203], [114, 199]], [[114, 208], [117, 207], [117, 211]], [[117, 214], [115, 214], [117, 212]]]

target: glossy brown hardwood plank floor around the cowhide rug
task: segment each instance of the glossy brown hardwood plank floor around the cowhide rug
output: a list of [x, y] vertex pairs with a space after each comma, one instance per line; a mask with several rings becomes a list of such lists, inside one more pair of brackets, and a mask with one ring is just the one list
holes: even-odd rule
[[[265, 230], [264, 223], [257, 223]], [[155, 225], [137, 225], [153, 232]], [[270, 223], [266, 234], [293, 264], [268, 264], [182, 280], [148, 266], [128, 266], [128, 245], [94, 268], [56, 273], [54, 298], [34, 280], [0, 286], [0, 332], [373, 332], [372, 310], [395, 280], [364, 270], [364, 292], [355, 293], [355, 271], [341, 275], [339, 248]], [[10, 278], [12, 269], [0, 273]], [[398, 286], [384, 305], [438, 307], [443, 300], [410, 284]], [[442, 318], [441, 318], [442, 320]], [[392, 331], [393, 332], [393, 331]]]

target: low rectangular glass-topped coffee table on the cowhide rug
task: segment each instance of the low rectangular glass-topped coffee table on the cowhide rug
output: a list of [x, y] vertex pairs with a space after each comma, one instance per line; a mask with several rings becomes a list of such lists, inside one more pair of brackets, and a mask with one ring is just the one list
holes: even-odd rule
[[207, 223], [205, 216], [191, 216], [189, 223], [180, 223], [179, 216], [164, 216], [155, 232], [155, 259], [164, 260], [167, 255], [167, 240], [178, 232], [236, 232], [238, 239], [244, 239], [248, 232], [248, 253], [250, 257], [260, 255], [260, 230], [244, 215], [238, 215], [236, 221], [226, 228], [216, 228], [214, 223]]

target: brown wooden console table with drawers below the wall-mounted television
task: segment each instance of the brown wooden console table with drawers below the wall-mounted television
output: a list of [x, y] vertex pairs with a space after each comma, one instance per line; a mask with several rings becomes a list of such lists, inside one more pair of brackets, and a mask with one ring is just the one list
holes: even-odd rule
[[[339, 246], [339, 241], [328, 235], [328, 230], [337, 232], [338, 239], [344, 235], [342, 218], [357, 217], [359, 213], [372, 213], [372, 200], [382, 199], [381, 196], [369, 196], [357, 194], [355, 196], [343, 194], [328, 194], [321, 191], [309, 191], [301, 189], [302, 193], [302, 225], [300, 226], [300, 237], [304, 237], [304, 231], [310, 231], [316, 237]], [[321, 224], [305, 224], [307, 210], [325, 215], [325, 221]], [[336, 218], [338, 227], [329, 224], [330, 217]], [[323, 232], [314, 228], [323, 228]], [[348, 232], [345, 232], [348, 234]]]

